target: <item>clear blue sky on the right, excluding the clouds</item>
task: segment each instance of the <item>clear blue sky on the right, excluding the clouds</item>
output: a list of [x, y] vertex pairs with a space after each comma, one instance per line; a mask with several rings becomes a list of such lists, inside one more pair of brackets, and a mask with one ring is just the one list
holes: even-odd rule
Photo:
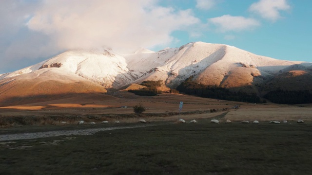
[[[177, 3], [179, 0], [164, 1], [164, 5], [178, 4], [176, 8], [195, 9], [195, 16], [201, 21], [223, 15], [254, 18], [260, 24], [251, 30], [220, 32], [213, 24], [209, 30], [203, 31], [199, 38], [189, 37], [183, 32], [174, 32], [173, 35], [180, 41], [175, 47], [192, 41], [208, 43], [222, 43], [259, 54], [282, 60], [312, 62], [312, 1], [311, 0], [280, 0], [289, 5], [288, 9], [277, 10], [279, 17], [263, 18], [261, 15], [249, 11], [253, 3], [260, 0], [215, 0], [209, 9], [198, 9], [196, 3], [182, 0], [187, 3]], [[274, 0], [268, 0], [274, 1]], [[278, 1], [278, 0], [277, 0]]]

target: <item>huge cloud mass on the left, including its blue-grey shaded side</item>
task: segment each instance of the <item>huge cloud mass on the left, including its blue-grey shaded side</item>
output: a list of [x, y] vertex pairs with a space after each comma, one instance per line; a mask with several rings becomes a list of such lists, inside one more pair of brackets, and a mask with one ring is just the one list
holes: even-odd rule
[[[68, 49], [109, 46], [153, 48], [176, 42], [177, 30], [200, 24], [191, 9], [158, 0], [1, 0], [0, 73], [24, 60], [46, 59]], [[7, 64], [6, 64], [7, 63]], [[24, 65], [24, 64], [23, 64]]]

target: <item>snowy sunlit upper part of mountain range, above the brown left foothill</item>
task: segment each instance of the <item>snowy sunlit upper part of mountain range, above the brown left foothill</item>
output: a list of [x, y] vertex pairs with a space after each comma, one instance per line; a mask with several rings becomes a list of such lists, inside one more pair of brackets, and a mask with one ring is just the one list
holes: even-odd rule
[[[47, 69], [66, 72], [74, 79], [83, 78], [105, 88], [120, 88], [144, 80], [162, 80], [167, 86], [175, 88], [192, 75], [204, 84], [230, 86], [234, 82], [241, 86], [251, 84], [257, 77], [274, 77], [280, 70], [294, 64], [299, 64], [300, 69], [311, 69], [312, 66], [312, 63], [255, 55], [233, 46], [192, 42], [158, 52], [140, 48], [129, 54], [116, 53], [109, 48], [72, 50], [34, 66], [1, 74], [0, 80], [22, 74], [43, 76]], [[259, 79], [259, 83], [263, 80]]]

